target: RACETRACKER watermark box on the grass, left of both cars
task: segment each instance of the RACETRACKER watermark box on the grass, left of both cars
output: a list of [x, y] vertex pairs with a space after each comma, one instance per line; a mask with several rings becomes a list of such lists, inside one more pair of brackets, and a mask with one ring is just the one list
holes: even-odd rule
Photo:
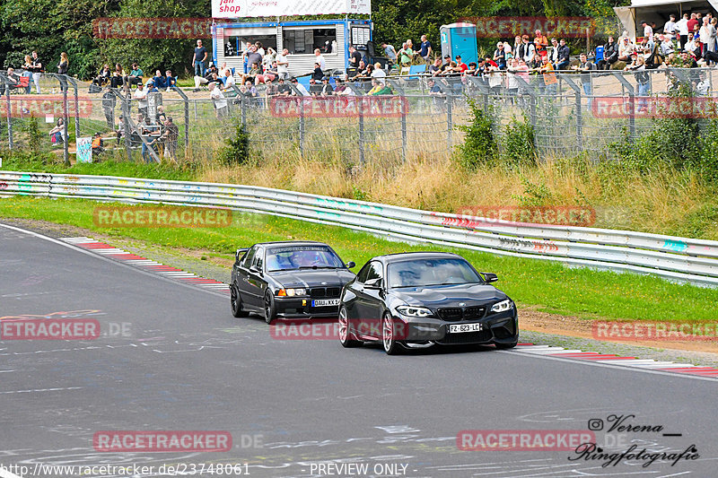
[[92, 221], [104, 228], [225, 228], [231, 209], [206, 207], [98, 206]]

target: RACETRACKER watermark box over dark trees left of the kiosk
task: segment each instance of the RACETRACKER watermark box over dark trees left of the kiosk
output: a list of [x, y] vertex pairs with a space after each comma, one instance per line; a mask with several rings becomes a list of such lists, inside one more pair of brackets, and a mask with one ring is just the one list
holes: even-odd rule
[[211, 39], [211, 18], [96, 18], [96, 39]]

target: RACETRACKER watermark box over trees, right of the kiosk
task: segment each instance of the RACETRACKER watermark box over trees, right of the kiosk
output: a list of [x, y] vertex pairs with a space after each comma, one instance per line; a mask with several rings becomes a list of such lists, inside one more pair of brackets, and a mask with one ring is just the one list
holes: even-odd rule
[[547, 38], [585, 38], [593, 36], [595, 26], [590, 17], [466, 17], [460, 22], [477, 26], [477, 38], [513, 38], [529, 35], [534, 38], [536, 30]]

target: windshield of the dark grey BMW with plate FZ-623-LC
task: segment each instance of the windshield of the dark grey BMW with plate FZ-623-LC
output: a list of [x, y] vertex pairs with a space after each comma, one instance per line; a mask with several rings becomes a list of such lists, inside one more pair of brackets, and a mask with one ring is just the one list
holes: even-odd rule
[[422, 259], [390, 264], [390, 287], [425, 287], [481, 283], [481, 277], [463, 259]]

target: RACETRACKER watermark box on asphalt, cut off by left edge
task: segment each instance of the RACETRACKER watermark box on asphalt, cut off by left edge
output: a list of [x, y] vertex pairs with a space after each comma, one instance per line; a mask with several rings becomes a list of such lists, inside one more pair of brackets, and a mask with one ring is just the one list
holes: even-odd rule
[[0, 320], [0, 340], [94, 340], [100, 322], [94, 318]]

